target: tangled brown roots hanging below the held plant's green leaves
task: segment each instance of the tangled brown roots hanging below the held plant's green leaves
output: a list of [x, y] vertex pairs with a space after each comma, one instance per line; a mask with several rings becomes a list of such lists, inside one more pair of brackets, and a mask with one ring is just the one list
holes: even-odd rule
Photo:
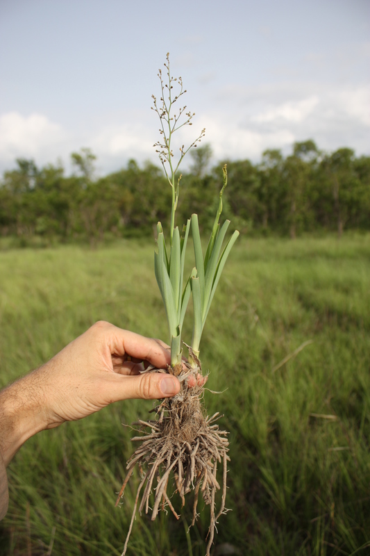
[[[196, 512], [199, 491], [205, 504], [210, 505], [210, 528], [207, 535], [206, 554], [206, 556], [210, 556], [217, 519], [221, 514], [226, 513], [226, 474], [227, 461], [230, 461], [230, 458], [227, 455], [228, 440], [226, 436], [228, 433], [219, 430], [219, 425], [215, 423], [221, 415], [217, 412], [212, 417], [205, 416], [201, 402], [203, 387], [199, 384], [192, 388], [187, 386], [191, 375], [195, 378], [199, 374], [201, 375], [201, 364], [198, 360], [196, 361], [199, 363], [196, 368], [185, 363], [185, 368], [176, 365], [163, 371], [178, 377], [181, 382], [180, 393], [174, 398], [162, 400], [152, 410], [155, 411], [154, 420], [139, 420], [134, 423], [144, 434], [131, 439], [141, 444], [127, 462], [127, 474], [116, 506], [124, 495], [124, 489], [135, 467], [140, 469], [142, 480], [137, 488], [130, 528], [121, 556], [126, 554], [128, 539], [143, 488], [144, 492], [139, 505], [140, 513], [144, 510], [148, 514], [149, 498], [153, 490], [154, 505], [153, 509], [150, 508], [152, 521], [155, 520], [161, 509], [167, 507], [171, 509], [176, 519], [180, 518], [167, 495], [167, 486], [171, 476], [174, 477], [176, 492], [182, 500], [181, 507], [185, 505], [185, 494], [194, 491], [193, 518], [190, 526], [194, 525], [199, 516]], [[157, 369], [155, 371], [158, 372]], [[221, 486], [217, 482], [217, 463], [221, 464], [223, 469]], [[153, 486], [155, 479], [157, 484]], [[222, 491], [221, 506], [216, 512], [215, 494], [220, 489]]]

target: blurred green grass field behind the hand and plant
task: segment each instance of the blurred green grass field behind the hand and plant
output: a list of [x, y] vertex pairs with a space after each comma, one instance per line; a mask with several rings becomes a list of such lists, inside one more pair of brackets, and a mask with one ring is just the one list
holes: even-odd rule
[[[0, 386], [99, 319], [167, 341], [153, 245], [0, 252]], [[370, 553], [369, 333], [369, 235], [239, 240], [201, 351], [224, 391], [205, 393], [208, 412], [230, 431], [215, 556]], [[30, 439], [8, 468], [0, 554], [120, 555], [139, 479], [115, 508], [133, 451], [121, 423], [151, 407], [117, 403]], [[128, 554], [204, 556], [207, 509], [190, 533], [182, 514], [137, 516]]]

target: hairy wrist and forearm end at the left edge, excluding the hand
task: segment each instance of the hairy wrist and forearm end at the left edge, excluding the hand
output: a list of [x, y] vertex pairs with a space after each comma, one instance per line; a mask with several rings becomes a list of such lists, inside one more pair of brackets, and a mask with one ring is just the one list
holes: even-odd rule
[[47, 428], [42, 390], [34, 384], [33, 373], [0, 391], [0, 452], [5, 466], [22, 444]]

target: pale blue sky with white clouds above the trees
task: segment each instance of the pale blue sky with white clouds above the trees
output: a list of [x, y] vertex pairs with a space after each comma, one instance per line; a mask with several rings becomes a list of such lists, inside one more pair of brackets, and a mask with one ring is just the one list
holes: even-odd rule
[[[97, 172], [158, 162], [170, 53], [213, 162], [313, 139], [370, 154], [369, 0], [0, 0], [0, 172], [89, 147]], [[163, 68], [164, 69], [164, 68]]]

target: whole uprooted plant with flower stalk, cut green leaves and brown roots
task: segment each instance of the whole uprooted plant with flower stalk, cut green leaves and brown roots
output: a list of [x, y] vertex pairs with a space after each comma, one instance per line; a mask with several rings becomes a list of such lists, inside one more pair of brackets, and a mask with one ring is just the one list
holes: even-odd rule
[[[159, 400], [157, 406], [153, 409], [153, 420], [140, 420], [135, 423], [142, 434], [135, 436], [132, 440], [140, 442], [140, 447], [135, 450], [128, 460], [126, 478], [119, 492], [116, 505], [123, 496], [126, 484], [134, 469], [139, 468], [142, 478], [137, 489], [133, 516], [122, 553], [122, 556], [124, 556], [133, 528], [137, 506], [139, 506], [139, 512], [144, 510], [146, 514], [150, 509], [152, 520], [156, 518], [160, 509], [166, 509], [167, 507], [178, 519], [179, 516], [171, 502], [171, 492], [175, 489], [174, 493], [179, 494], [182, 505], [184, 505], [185, 495], [194, 491], [192, 518], [192, 525], [194, 525], [198, 516], [197, 503], [199, 493], [201, 493], [205, 504], [210, 505], [210, 528], [207, 545], [207, 556], [209, 556], [217, 519], [226, 511], [226, 473], [229, 457], [227, 433], [219, 430], [219, 425], [216, 423], [220, 414], [218, 412], [212, 416], [205, 414], [203, 381], [199, 377], [199, 375], [202, 376], [199, 345], [221, 272], [239, 232], [235, 231], [222, 249], [226, 231], [230, 224], [229, 220], [226, 220], [221, 227], [219, 224], [222, 211], [222, 195], [227, 183], [226, 165], [223, 168], [224, 185], [219, 193], [215, 223], [205, 255], [203, 256], [199, 222], [196, 214], [193, 214], [192, 218], [187, 220], [181, 236], [178, 227], [175, 227], [175, 213], [181, 179], [181, 176], [178, 177], [177, 175], [178, 167], [189, 149], [196, 147], [196, 144], [201, 141], [205, 130], [201, 131], [199, 137], [187, 149], [184, 145], [180, 147], [180, 156], [176, 160], [172, 151], [173, 135], [180, 127], [192, 125], [191, 120], [194, 113], [185, 112], [186, 106], [179, 108], [178, 112], [174, 113], [174, 104], [183, 97], [186, 90], [183, 89], [183, 81], [180, 77], [174, 78], [171, 76], [169, 54], [167, 54], [165, 68], [165, 78], [162, 76], [161, 70], [158, 73], [161, 85], [160, 103], [158, 104], [157, 99], [152, 95], [152, 108], [160, 118], [160, 140], [155, 143], [154, 147], [158, 152], [172, 190], [171, 225], [169, 245], [167, 246], [162, 224], [158, 222], [158, 250], [154, 255], [154, 267], [155, 277], [165, 304], [171, 341], [171, 366], [163, 369], [162, 372], [178, 377], [181, 389], [180, 393], [174, 398]], [[178, 92], [174, 95], [173, 88], [176, 85], [178, 86]], [[185, 120], [183, 117], [184, 121], [180, 122], [184, 115]], [[195, 267], [184, 284], [185, 252], [190, 227], [194, 243]], [[188, 350], [188, 358], [184, 362], [181, 331], [190, 295], [192, 295], [194, 306], [194, 325], [192, 342], [190, 345], [184, 343]], [[153, 368], [148, 368], [144, 372], [153, 370], [158, 372], [157, 369]], [[188, 387], [190, 376], [194, 377], [192, 382], [196, 383], [192, 388]], [[222, 467], [221, 485], [217, 480], [218, 464]], [[171, 477], [173, 477], [172, 480]], [[174, 489], [172, 484], [174, 484]], [[169, 485], [171, 491], [167, 492]], [[215, 494], [219, 489], [221, 489], [221, 504], [217, 510]]]

